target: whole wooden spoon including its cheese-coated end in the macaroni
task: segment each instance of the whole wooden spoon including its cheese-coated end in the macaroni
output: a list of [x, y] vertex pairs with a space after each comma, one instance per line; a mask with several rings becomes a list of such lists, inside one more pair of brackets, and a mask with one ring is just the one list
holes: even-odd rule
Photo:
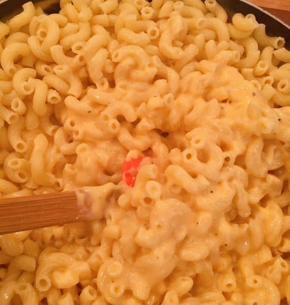
[[60, 192], [0, 200], [0, 234], [101, 219], [120, 187], [109, 182]]

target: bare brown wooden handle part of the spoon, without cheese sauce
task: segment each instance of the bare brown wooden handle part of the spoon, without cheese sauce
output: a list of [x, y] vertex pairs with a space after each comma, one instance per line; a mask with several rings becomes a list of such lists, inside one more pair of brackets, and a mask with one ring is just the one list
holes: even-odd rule
[[81, 220], [75, 192], [0, 200], [0, 234]]

